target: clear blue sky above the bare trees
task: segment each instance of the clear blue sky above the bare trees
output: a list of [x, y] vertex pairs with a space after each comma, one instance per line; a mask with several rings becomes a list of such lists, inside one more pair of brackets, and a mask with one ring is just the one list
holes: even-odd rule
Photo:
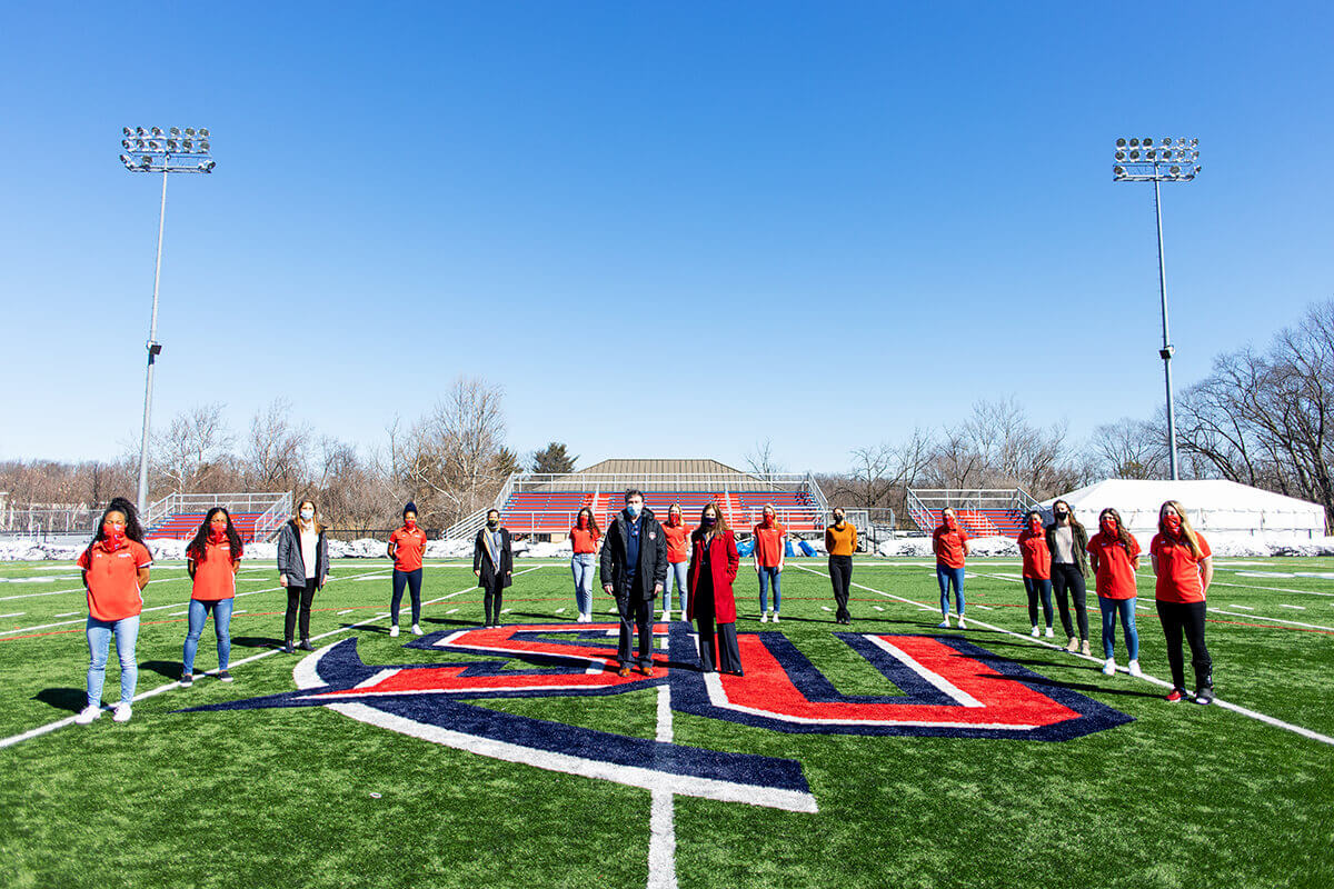
[[375, 446], [479, 375], [514, 448], [580, 465], [772, 437], [838, 470], [1010, 395], [1083, 437], [1162, 399], [1117, 136], [1201, 140], [1165, 187], [1182, 385], [1334, 296], [1331, 33], [1317, 3], [7, 4], [0, 457], [137, 441], [127, 124], [217, 161], [169, 184], [159, 421], [285, 396]]

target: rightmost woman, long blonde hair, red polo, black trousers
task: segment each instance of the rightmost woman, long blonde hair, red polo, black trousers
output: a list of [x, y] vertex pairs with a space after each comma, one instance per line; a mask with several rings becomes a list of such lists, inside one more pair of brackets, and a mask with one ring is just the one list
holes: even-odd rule
[[1167, 636], [1167, 662], [1173, 689], [1167, 701], [1175, 704], [1186, 693], [1186, 665], [1181, 636], [1190, 642], [1190, 662], [1195, 668], [1195, 704], [1214, 702], [1214, 661], [1205, 648], [1205, 596], [1214, 580], [1214, 554], [1201, 537], [1186, 508], [1169, 500], [1158, 509], [1158, 534], [1149, 544], [1149, 558], [1158, 582], [1154, 592], [1158, 620]]

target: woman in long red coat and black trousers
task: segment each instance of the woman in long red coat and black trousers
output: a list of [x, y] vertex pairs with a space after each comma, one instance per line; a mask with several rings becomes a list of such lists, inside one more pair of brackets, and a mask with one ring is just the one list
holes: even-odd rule
[[716, 664], [723, 673], [742, 676], [742, 654], [736, 648], [736, 602], [732, 598], [732, 581], [742, 560], [736, 554], [736, 537], [728, 530], [718, 506], [704, 506], [690, 542], [686, 618], [699, 626], [700, 669], [712, 673]]

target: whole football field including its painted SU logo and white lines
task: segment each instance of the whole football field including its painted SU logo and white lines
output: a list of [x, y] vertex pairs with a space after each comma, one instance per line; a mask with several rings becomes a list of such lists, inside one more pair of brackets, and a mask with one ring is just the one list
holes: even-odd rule
[[[336, 561], [295, 656], [276, 572], [243, 562], [235, 681], [187, 689], [189, 581], [160, 562], [133, 718], [77, 726], [77, 570], [4, 564], [0, 884], [1331, 886], [1334, 560], [1217, 568], [1199, 706], [1163, 701], [1147, 569], [1145, 678], [1119, 626], [1099, 670], [1091, 592], [1094, 658], [1059, 618], [1031, 638], [1017, 560], [970, 560], [960, 632], [926, 560], [856, 560], [840, 626], [824, 561], [792, 558], [778, 625], [743, 562], [744, 677], [699, 673], [672, 621], [622, 681], [612, 601], [574, 624], [564, 561], [516, 562], [500, 630], [470, 564], [428, 561], [420, 638], [407, 601], [388, 636], [387, 561]], [[112, 652], [108, 702], [119, 674]]]

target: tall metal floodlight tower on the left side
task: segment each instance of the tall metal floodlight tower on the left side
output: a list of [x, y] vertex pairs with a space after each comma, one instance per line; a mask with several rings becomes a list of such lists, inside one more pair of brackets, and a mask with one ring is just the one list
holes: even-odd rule
[[163, 351], [157, 341], [157, 284], [163, 273], [163, 227], [167, 224], [167, 173], [211, 173], [208, 129], [187, 127], [184, 132], [172, 127], [163, 133], [161, 127], [121, 129], [120, 147], [125, 153], [120, 163], [132, 173], [163, 175], [163, 204], [157, 216], [157, 261], [153, 265], [153, 313], [148, 323], [148, 381], [144, 387], [144, 437], [139, 446], [139, 514], [148, 512], [148, 424], [153, 407], [153, 364]]

